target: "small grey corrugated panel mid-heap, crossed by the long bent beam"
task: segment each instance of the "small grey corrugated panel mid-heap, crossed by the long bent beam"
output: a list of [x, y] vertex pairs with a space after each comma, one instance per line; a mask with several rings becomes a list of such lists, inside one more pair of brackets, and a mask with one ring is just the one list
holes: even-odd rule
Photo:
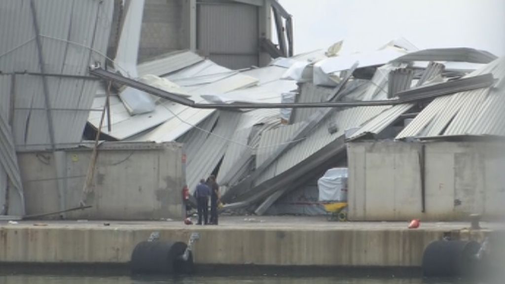
[[[312, 83], [304, 83], [301, 85], [300, 93], [296, 96], [295, 103], [326, 102], [331, 96], [332, 91], [333, 88], [316, 86]], [[314, 108], [293, 109], [291, 111], [291, 123], [305, 121], [318, 111], [319, 109]]]

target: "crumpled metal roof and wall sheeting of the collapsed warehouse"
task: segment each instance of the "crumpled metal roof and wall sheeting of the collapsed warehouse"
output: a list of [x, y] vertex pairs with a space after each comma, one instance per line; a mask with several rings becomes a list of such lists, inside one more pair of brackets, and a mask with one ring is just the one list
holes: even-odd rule
[[[215, 62], [221, 60], [219, 54], [210, 60], [191, 44], [139, 62], [145, 56], [140, 52], [143, 1], [129, 3], [113, 41], [112, 1], [78, 1], [58, 9], [11, 3], [31, 3], [44, 13], [65, 8], [72, 15], [58, 28], [35, 20], [18, 23], [26, 25], [21, 33], [26, 36], [0, 43], [0, 137], [6, 141], [0, 148], [0, 185], [12, 183], [20, 199], [16, 151], [77, 147], [83, 132], [94, 138], [99, 131], [111, 141], [182, 143], [190, 190], [200, 178], [215, 174], [225, 210], [256, 214], [267, 213], [289, 193], [341, 164], [347, 141], [505, 132], [503, 119], [495, 120], [503, 116], [499, 79], [505, 65], [484, 51], [420, 51], [398, 39], [370, 53], [341, 54], [339, 42], [327, 52], [288, 57], [292, 30], [286, 38], [278, 26], [282, 44], [277, 48], [262, 41], [275, 57], [263, 67], [227, 68]], [[290, 26], [287, 12], [275, 1], [272, 7]], [[74, 19], [73, 11], [80, 10], [89, 12], [89, 19]], [[3, 27], [17, 23], [7, 16], [15, 17], [2, 15]], [[16, 19], [26, 18], [31, 19]], [[106, 53], [113, 58], [106, 61]], [[251, 62], [260, 57], [256, 54]], [[26, 61], [26, 68], [9, 68], [15, 61]], [[20, 70], [25, 72], [18, 74]], [[28, 76], [37, 80], [24, 83]], [[34, 97], [39, 90], [44, 96]], [[7, 95], [11, 93], [15, 102]], [[406, 117], [412, 122], [398, 128]]]

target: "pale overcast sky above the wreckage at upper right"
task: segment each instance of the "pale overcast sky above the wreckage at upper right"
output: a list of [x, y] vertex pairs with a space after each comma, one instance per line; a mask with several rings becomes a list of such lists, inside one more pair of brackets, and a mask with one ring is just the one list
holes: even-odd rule
[[[369, 51], [405, 37], [420, 49], [465, 46], [505, 55], [504, 0], [280, 0], [293, 15], [295, 54]], [[275, 34], [273, 34], [275, 38]]]

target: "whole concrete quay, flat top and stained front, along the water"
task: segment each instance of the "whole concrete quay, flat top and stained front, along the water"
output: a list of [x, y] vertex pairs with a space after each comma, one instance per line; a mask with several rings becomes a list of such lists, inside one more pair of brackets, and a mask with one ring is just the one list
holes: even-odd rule
[[18, 221], [0, 223], [1, 263], [128, 264], [135, 245], [159, 231], [161, 240], [200, 239], [202, 265], [420, 267], [423, 251], [444, 235], [480, 240], [499, 225], [481, 223], [329, 222], [325, 217], [223, 216], [218, 226], [182, 221]]

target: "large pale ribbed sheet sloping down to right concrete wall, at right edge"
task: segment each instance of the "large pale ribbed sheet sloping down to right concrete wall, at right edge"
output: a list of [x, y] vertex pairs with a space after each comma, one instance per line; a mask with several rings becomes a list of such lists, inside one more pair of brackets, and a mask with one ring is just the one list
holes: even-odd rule
[[[503, 59], [491, 62], [467, 77], [486, 73], [492, 73], [497, 79], [503, 78]], [[495, 85], [499, 84], [498, 82]], [[503, 90], [491, 87], [436, 98], [396, 139], [444, 135], [503, 135], [502, 111], [496, 109], [501, 105], [501, 97]]]

